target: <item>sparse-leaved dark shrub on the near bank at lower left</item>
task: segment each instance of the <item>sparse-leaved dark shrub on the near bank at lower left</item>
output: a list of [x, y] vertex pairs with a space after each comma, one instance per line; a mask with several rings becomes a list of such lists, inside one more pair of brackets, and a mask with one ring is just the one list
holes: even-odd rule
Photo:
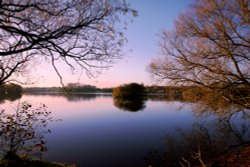
[[2, 158], [40, 157], [47, 150], [44, 134], [52, 121], [45, 105], [33, 108], [28, 103], [19, 104], [14, 114], [0, 112], [0, 153]]

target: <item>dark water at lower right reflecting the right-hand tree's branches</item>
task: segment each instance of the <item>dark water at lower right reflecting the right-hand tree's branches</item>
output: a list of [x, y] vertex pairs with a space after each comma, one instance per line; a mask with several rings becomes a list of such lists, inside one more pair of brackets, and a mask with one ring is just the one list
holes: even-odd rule
[[152, 150], [147, 162], [152, 166], [195, 166], [201, 165], [199, 160], [212, 163], [233, 149], [250, 145], [249, 110], [233, 109], [223, 113], [203, 110], [199, 113], [202, 123], [193, 124], [189, 131], [178, 129], [178, 137], [167, 135], [164, 152]]

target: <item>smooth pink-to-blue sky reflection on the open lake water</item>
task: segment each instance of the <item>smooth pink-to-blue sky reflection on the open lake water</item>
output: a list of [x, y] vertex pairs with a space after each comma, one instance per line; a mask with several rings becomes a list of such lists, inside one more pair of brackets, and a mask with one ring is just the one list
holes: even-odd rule
[[79, 166], [143, 166], [150, 148], [160, 148], [166, 134], [195, 121], [189, 105], [147, 101], [143, 111], [116, 108], [111, 97], [67, 101], [64, 97], [23, 96], [22, 101], [44, 103], [54, 118], [44, 158]]

